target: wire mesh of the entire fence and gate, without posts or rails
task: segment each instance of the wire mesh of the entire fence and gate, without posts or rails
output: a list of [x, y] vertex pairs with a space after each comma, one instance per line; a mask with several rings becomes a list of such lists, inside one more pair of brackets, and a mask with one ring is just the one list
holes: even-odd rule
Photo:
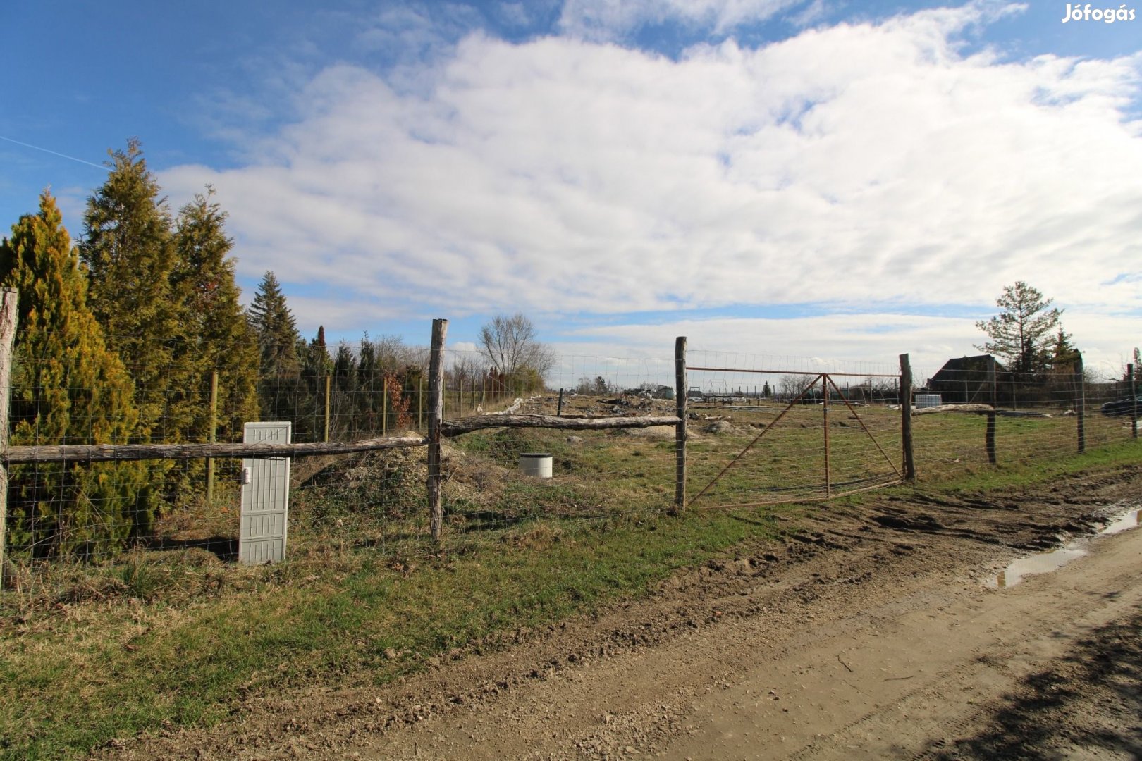
[[[200, 363], [185, 382], [153, 390], [107, 373], [90, 384], [62, 382], [55, 358], [25, 346], [13, 372], [10, 445], [236, 444], [242, 426], [256, 420], [290, 422], [293, 440], [305, 445], [404, 436], [411, 446], [293, 459], [289, 560], [407, 567], [442, 551], [429, 539], [419, 446], [431, 406], [429, 349], [386, 337], [293, 349], [289, 363]], [[523, 415], [636, 426], [489, 423], [449, 435], [441, 463], [447, 551], [550, 547], [581, 521], [674, 507], [676, 367], [665, 347], [644, 358], [552, 354], [542, 373], [491, 367], [475, 350], [444, 356], [445, 423]], [[1135, 435], [1125, 380], [1075, 367], [1014, 374], [974, 359], [984, 364], [912, 374], [920, 481], [1071, 456]], [[686, 488], [695, 508], [820, 500], [900, 479], [898, 366], [700, 349], [685, 366]], [[650, 418], [662, 422], [638, 422]], [[550, 455], [552, 477], [522, 473], [522, 454]], [[209, 586], [222, 568], [255, 573], [231, 565], [240, 471], [236, 456], [10, 464], [5, 543], [16, 584], [50, 586], [53, 574], [103, 564], [103, 581], [70, 584], [67, 594], [142, 596], [158, 578]]]

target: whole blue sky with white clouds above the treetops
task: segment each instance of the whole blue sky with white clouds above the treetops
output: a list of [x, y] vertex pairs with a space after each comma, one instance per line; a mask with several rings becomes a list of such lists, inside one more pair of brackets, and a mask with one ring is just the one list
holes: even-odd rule
[[1142, 340], [1142, 18], [321, 6], [3, 3], [0, 226], [50, 187], [80, 236], [137, 136], [172, 209], [217, 189], [247, 298], [273, 269], [307, 334], [443, 316], [465, 349], [523, 311], [568, 355], [934, 369], [1026, 280], [1108, 374]]

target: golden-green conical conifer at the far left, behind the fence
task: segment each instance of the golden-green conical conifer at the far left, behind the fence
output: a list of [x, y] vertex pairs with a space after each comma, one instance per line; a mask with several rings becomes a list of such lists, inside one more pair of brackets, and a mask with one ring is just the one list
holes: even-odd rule
[[[131, 380], [104, 343], [87, 280], [51, 195], [0, 242], [0, 284], [19, 291], [11, 443], [124, 444], [138, 414]], [[140, 463], [11, 469], [10, 543], [34, 557], [115, 549], [151, 531]]]

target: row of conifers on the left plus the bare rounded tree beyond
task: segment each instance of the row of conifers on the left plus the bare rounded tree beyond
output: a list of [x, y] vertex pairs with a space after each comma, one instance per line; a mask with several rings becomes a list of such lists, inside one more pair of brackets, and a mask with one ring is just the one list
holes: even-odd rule
[[[254, 420], [289, 420], [295, 440], [412, 423], [425, 351], [368, 334], [330, 350], [323, 327], [305, 340], [272, 272], [243, 309], [214, 189], [171, 212], [137, 139], [107, 167], [78, 244], [48, 191], [0, 240], [0, 286], [19, 291], [13, 445], [206, 442], [211, 421], [217, 440], [234, 442]], [[453, 363], [453, 381], [542, 387], [554, 356], [530, 321], [498, 317], [481, 339], [481, 362]], [[163, 460], [14, 467], [8, 545], [89, 556], [148, 539], [164, 511], [201, 499], [203, 470]]]

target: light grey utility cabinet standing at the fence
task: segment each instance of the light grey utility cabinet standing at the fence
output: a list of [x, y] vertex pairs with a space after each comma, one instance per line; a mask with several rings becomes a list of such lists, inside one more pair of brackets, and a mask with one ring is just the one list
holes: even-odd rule
[[[289, 444], [290, 423], [246, 423], [246, 444]], [[238, 561], [276, 562], [286, 557], [289, 518], [289, 458], [242, 460], [242, 517]]]

